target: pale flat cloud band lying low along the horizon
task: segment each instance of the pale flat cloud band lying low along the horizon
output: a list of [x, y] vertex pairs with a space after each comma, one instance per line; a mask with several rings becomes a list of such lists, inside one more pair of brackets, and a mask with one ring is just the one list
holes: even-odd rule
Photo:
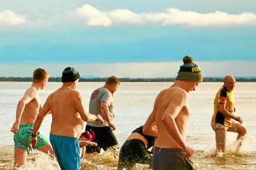
[[[195, 61], [204, 76], [256, 76], [255, 61]], [[120, 78], [172, 78], [177, 76], [181, 62], [117, 62], [117, 63], [58, 63], [58, 64], [0, 64], [0, 76], [31, 76], [37, 67], [45, 68], [50, 76], [61, 76], [65, 67], [74, 67], [81, 76], [94, 75], [107, 77], [111, 75]], [[100, 69], [99, 69], [100, 68]]]

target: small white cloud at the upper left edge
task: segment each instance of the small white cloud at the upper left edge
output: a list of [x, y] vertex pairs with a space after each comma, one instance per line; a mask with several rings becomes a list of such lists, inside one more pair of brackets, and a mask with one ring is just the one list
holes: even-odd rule
[[0, 26], [4, 25], [17, 25], [26, 22], [26, 18], [23, 15], [17, 15], [10, 10], [0, 11]]

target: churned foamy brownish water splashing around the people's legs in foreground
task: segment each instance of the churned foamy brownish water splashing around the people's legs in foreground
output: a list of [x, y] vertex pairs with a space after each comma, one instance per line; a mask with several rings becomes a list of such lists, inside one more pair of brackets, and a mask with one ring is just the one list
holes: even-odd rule
[[[243, 143], [245, 144], [246, 141]], [[213, 147], [205, 150], [196, 150], [192, 157], [195, 167], [198, 169], [256, 169], [256, 151], [255, 145], [250, 147], [251, 151], [243, 150], [237, 151], [237, 142], [227, 146], [225, 153], [219, 153], [216, 157], [212, 156], [214, 153]], [[247, 146], [245, 146], [247, 147]], [[13, 146], [0, 146], [0, 169], [11, 169], [13, 167]], [[118, 164], [119, 146], [110, 148], [108, 151], [102, 153], [86, 154], [81, 160], [81, 169], [95, 170], [95, 169], [116, 169]], [[58, 162], [38, 151], [33, 151], [29, 154], [26, 164], [20, 169], [60, 169]], [[134, 169], [149, 169], [147, 164], [136, 164]]]

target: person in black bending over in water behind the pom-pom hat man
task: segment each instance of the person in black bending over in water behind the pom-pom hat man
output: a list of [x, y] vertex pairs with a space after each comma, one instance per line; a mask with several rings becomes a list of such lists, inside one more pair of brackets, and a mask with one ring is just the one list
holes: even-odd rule
[[157, 126], [150, 135], [143, 134], [143, 126], [136, 128], [120, 148], [118, 170], [131, 169], [136, 163], [151, 164], [152, 155], [147, 149], [154, 146], [156, 137]]

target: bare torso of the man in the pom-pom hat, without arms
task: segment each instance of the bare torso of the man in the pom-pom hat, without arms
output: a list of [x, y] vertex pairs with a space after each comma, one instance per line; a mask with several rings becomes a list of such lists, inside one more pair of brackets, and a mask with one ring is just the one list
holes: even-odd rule
[[[157, 97], [156, 101], [156, 122], [157, 122], [157, 128], [158, 128], [158, 137], [157, 137], [157, 146], [161, 148], [182, 148], [177, 144], [175, 139], [171, 135], [169, 135], [168, 131], [166, 130], [166, 127], [164, 126], [162, 122], [163, 113], [166, 112], [167, 108], [172, 105], [172, 102], [175, 97], [177, 96], [186, 96], [188, 95], [187, 92], [182, 90], [181, 88], [174, 86], [169, 87], [166, 90], [163, 90], [160, 92], [159, 96]], [[173, 108], [175, 108], [176, 105], [173, 105]], [[179, 130], [179, 133], [182, 137], [182, 140], [186, 141], [186, 130], [189, 126], [189, 103], [188, 101], [184, 102], [184, 105], [181, 105], [181, 110], [179, 110], [177, 117], [175, 117], [175, 124], [177, 125], [177, 128]], [[171, 113], [170, 113], [171, 114]]]

